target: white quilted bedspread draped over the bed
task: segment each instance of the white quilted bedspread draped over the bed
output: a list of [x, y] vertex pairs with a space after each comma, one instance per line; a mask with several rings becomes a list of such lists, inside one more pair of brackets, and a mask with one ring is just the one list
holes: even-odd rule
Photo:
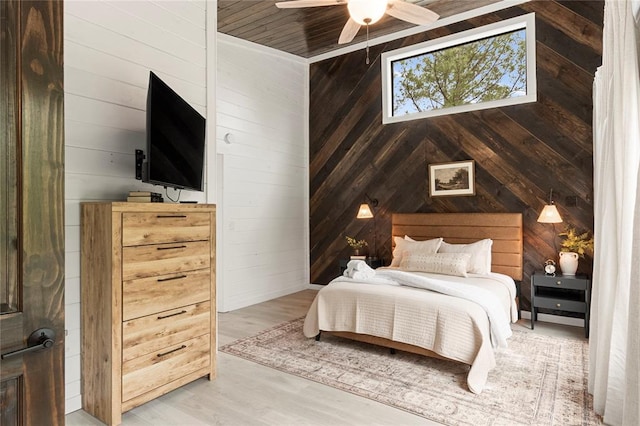
[[[424, 286], [477, 293], [492, 301], [479, 304], [464, 294], [460, 298], [417, 288]], [[503, 346], [511, 334], [509, 319], [517, 320], [515, 284], [504, 275], [463, 278], [379, 268], [372, 283], [339, 277], [320, 290], [307, 313], [304, 334], [347, 331], [431, 350], [471, 365], [467, 384], [480, 393], [495, 366], [491, 324], [499, 330], [494, 340]]]

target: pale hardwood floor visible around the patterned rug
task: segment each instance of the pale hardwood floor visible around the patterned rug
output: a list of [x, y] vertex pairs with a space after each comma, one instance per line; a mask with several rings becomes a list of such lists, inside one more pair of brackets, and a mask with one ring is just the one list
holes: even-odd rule
[[[306, 314], [315, 290], [305, 290], [218, 314], [219, 345]], [[528, 320], [514, 328], [529, 329]], [[535, 333], [583, 339], [578, 327], [536, 323]], [[82, 410], [69, 426], [102, 423]], [[122, 416], [123, 425], [434, 425], [422, 417], [241, 358], [218, 352], [218, 378], [200, 379]]]

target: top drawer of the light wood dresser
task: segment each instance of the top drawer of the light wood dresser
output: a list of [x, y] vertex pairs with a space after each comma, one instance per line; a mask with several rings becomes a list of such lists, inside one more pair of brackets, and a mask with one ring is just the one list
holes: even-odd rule
[[209, 213], [123, 213], [122, 245], [209, 240]]

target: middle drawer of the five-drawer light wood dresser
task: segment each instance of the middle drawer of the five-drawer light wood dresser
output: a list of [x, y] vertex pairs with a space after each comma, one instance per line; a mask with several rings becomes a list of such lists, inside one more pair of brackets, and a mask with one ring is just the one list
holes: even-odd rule
[[122, 283], [122, 320], [204, 302], [211, 298], [211, 271], [199, 269]]

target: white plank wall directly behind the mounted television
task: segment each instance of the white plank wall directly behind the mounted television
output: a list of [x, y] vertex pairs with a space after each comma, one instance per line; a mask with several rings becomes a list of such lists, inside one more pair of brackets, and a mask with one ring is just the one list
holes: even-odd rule
[[[207, 117], [213, 79], [207, 75], [206, 8], [204, 0], [65, 1], [67, 413], [81, 408], [79, 204], [123, 200], [132, 189], [163, 191], [134, 178], [134, 150], [145, 149], [149, 71]], [[215, 114], [207, 119], [215, 128]], [[208, 167], [215, 176], [215, 165]], [[205, 198], [201, 192], [181, 196]]]

